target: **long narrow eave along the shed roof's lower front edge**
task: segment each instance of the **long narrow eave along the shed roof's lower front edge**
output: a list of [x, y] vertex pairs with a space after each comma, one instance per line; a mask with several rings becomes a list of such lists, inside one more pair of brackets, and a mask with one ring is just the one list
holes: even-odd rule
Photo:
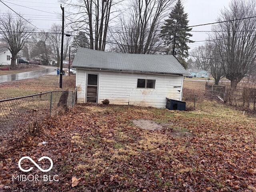
[[151, 72], [151, 71], [136, 71], [136, 70], [120, 70], [120, 69], [108, 69], [108, 68], [97, 68], [97, 67], [83, 67], [72, 65], [72, 68], [84, 69], [84, 70], [103, 70], [103, 71], [114, 71], [114, 72], [130, 72], [130, 73], [145, 73], [145, 74], [162, 74], [162, 75], [178, 75], [186, 76], [189, 73], [165, 73], [165, 72]]

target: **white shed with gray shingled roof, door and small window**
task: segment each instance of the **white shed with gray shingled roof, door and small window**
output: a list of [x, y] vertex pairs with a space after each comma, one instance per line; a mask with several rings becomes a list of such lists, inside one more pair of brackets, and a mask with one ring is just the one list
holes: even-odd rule
[[172, 55], [122, 54], [79, 48], [74, 58], [78, 102], [154, 106], [182, 100], [188, 72]]

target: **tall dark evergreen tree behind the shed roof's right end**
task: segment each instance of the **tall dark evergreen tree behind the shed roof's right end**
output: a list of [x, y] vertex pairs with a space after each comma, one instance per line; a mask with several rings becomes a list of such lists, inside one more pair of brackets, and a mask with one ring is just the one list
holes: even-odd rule
[[189, 49], [187, 43], [193, 42], [189, 39], [192, 37], [189, 33], [191, 30], [192, 28], [188, 28], [188, 14], [184, 12], [181, 0], [178, 0], [162, 26], [161, 37], [167, 46], [167, 54], [174, 55], [185, 68], [185, 58], [188, 57]]

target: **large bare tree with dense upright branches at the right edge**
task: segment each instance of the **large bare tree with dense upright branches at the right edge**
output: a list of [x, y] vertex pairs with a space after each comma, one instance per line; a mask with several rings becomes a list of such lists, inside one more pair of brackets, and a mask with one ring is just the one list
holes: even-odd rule
[[[254, 67], [256, 59], [256, 15], [255, 0], [232, 0], [228, 8], [224, 8], [218, 21], [222, 22], [213, 27], [212, 38], [216, 46], [226, 78], [231, 81], [231, 90]], [[248, 18], [235, 20], [240, 18]]]

